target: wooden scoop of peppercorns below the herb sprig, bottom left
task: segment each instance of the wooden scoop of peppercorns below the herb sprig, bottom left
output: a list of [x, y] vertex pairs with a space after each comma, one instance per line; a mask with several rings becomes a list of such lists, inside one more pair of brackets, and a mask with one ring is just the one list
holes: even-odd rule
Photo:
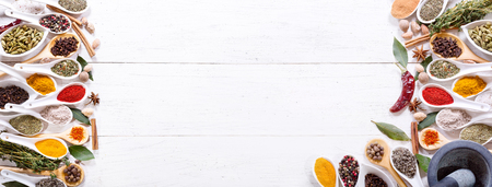
[[70, 187], [79, 186], [84, 180], [84, 176], [85, 176], [84, 170], [80, 165], [77, 165], [77, 164], [70, 164], [70, 165], [74, 165], [78, 170], [80, 170], [80, 180], [77, 183], [68, 183], [65, 179], [66, 175], [63, 174], [63, 170], [67, 168], [67, 165], [63, 165], [62, 167], [57, 168], [55, 171], [43, 171], [40, 173], [36, 173], [33, 170], [28, 170], [28, 168], [19, 168], [19, 167], [9, 167], [9, 166], [0, 166], [0, 171], [9, 170], [9, 171], [16, 172], [16, 173], [36, 174], [36, 175], [45, 175], [45, 176], [50, 176], [51, 174], [55, 174], [55, 175], [57, 175], [57, 178], [61, 179], [61, 182], [63, 182], [67, 186], [70, 186]]

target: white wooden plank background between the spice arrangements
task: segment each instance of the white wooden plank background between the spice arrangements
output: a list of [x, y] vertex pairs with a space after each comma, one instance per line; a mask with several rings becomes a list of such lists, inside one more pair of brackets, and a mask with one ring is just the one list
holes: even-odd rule
[[385, 138], [371, 120], [410, 135], [410, 113], [389, 113], [391, 0], [91, 2], [102, 98], [84, 187], [314, 186], [316, 156], [367, 162]]

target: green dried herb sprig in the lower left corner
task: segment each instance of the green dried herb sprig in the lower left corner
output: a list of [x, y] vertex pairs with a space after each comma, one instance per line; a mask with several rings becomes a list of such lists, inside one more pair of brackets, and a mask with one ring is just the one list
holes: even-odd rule
[[[0, 132], [1, 133], [1, 132]], [[14, 162], [20, 168], [31, 168], [35, 172], [57, 170], [62, 160], [49, 160], [48, 157], [20, 144], [0, 140], [0, 159]]]

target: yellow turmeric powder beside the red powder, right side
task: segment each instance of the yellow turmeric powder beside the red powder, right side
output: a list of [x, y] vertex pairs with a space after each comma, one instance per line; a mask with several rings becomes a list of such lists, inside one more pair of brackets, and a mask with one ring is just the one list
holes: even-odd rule
[[456, 81], [453, 91], [462, 97], [477, 95], [485, 89], [487, 82], [480, 79], [480, 77], [465, 77]]

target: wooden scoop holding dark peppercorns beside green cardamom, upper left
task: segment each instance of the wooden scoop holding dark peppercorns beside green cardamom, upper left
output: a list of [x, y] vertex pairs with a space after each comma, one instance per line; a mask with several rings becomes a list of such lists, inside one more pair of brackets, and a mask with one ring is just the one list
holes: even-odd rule
[[[39, 60], [43, 59], [43, 58], [62, 59], [62, 58], [71, 57], [73, 54], [77, 52], [77, 50], [75, 50], [75, 51], [72, 51], [72, 52], [69, 54], [67, 57], [63, 57], [63, 56], [54, 56], [54, 55], [51, 54], [51, 47], [55, 46], [56, 40], [57, 40], [58, 38], [61, 38], [61, 37], [72, 37], [72, 36], [79, 42], [79, 43], [77, 44], [77, 50], [79, 50], [79, 49], [80, 49], [80, 43], [81, 43], [79, 36], [77, 36], [77, 34], [72, 34], [72, 33], [63, 33], [63, 34], [60, 34], [60, 35], [58, 35], [58, 36], [55, 36], [55, 37], [48, 43], [48, 45], [46, 45], [46, 47], [45, 47], [38, 55], [36, 55], [36, 56], [34, 56], [33, 58], [30, 58], [28, 60], [25, 60], [25, 61], [23, 61], [23, 62], [21, 62], [21, 63], [33, 63], [33, 62], [35, 62], [35, 61], [39, 61]], [[5, 75], [5, 73], [4, 73], [4, 72], [0, 72], [0, 77], [3, 77], [3, 75]]]

